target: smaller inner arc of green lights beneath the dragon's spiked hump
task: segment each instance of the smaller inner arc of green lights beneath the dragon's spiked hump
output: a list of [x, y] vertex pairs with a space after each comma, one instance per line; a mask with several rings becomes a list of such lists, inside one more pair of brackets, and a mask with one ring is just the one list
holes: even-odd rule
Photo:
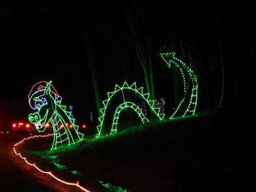
[[117, 124], [118, 124], [118, 120], [119, 120], [119, 115], [120, 115], [121, 111], [126, 108], [133, 109], [137, 113], [137, 115], [140, 117], [142, 123], [145, 123], [145, 121], [150, 122], [144, 116], [144, 114], [141, 112], [138, 105], [136, 105], [133, 102], [124, 102], [124, 103], [120, 104], [115, 111], [112, 126], [111, 126], [111, 134], [115, 134], [117, 132]]

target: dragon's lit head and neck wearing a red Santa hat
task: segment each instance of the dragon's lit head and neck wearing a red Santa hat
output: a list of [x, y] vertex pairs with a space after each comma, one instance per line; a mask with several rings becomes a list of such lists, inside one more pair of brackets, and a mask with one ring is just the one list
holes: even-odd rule
[[44, 132], [47, 125], [51, 123], [54, 133], [51, 150], [83, 139], [84, 135], [78, 131], [79, 126], [74, 123], [75, 119], [70, 118], [66, 105], [61, 104], [62, 98], [52, 86], [51, 81], [40, 81], [34, 84], [28, 98], [29, 105], [36, 111], [29, 115], [29, 121], [36, 126], [37, 131]]

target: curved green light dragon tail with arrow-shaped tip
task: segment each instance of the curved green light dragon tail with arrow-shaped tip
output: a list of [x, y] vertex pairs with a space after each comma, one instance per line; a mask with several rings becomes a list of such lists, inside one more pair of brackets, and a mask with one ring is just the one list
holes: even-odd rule
[[197, 73], [195, 70], [193, 70], [193, 68], [188, 67], [182, 60], [178, 59], [175, 55], [176, 54], [174, 52], [160, 53], [160, 56], [166, 63], [167, 67], [178, 69], [183, 79], [183, 98], [181, 99], [175, 112], [172, 114], [172, 116], [170, 116], [170, 119], [175, 117], [177, 112], [182, 109], [183, 105], [185, 105], [187, 93], [190, 94], [188, 96], [189, 101], [187, 106], [184, 106], [185, 111], [182, 117], [184, 117], [185, 115], [194, 115], [198, 102]]

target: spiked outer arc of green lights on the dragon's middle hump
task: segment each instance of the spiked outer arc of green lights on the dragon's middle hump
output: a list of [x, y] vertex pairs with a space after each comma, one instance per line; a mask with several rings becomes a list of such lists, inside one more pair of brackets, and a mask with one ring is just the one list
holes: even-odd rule
[[[116, 84], [115, 86], [115, 90], [113, 92], [108, 92], [107, 95], [108, 95], [108, 99], [104, 100], [102, 103], [103, 103], [103, 108], [100, 109], [100, 117], [98, 118], [99, 119], [99, 125], [97, 126], [97, 130], [98, 130], [98, 134], [96, 135], [96, 138], [100, 137], [101, 135], [101, 130], [102, 130], [102, 126], [103, 126], [103, 122], [104, 122], [104, 119], [105, 119], [105, 113], [106, 113], [106, 109], [108, 108], [108, 105], [110, 103], [110, 100], [113, 98], [113, 96], [120, 92], [120, 91], [123, 91], [123, 90], [129, 90], [129, 91], [133, 91], [136, 93], [137, 96], [139, 96], [141, 99], [143, 99], [147, 104], [148, 106], [150, 106], [150, 109], [153, 111], [153, 113], [160, 119], [162, 120], [163, 117], [164, 117], [164, 113], [160, 113], [160, 109], [159, 108], [156, 108], [156, 105], [155, 105], [155, 100], [150, 100], [150, 95], [148, 93], [143, 93], [143, 87], [141, 88], [137, 88], [137, 84], [136, 82], [134, 82], [131, 86], [129, 86], [127, 84], [126, 81], [124, 81], [122, 87], [118, 86]], [[128, 102], [125, 102], [125, 103], [128, 103]]]

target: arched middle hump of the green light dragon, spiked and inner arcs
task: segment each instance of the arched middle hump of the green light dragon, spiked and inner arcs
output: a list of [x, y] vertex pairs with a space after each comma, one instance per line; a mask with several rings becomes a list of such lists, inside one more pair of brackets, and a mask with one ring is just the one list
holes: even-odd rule
[[[131, 86], [129, 86], [127, 84], [127, 82], [125, 81], [123, 83], [122, 87], [120, 87], [116, 84], [115, 90], [113, 92], [108, 92], [107, 93], [108, 99], [103, 101], [103, 108], [100, 109], [101, 115], [99, 117], [99, 125], [97, 126], [97, 130], [98, 130], [98, 134], [96, 135], [97, 138], [100, 137], [100, 135], [102, 134], [101, 131], [102, 131], [102, 126], [103, 126], [103, 123], [105, 120], [106, 109], [108, 108], [110, 101], [112, 100], [113, 96], [116, 95], [117, 93], [121, 92], [123, 94], [124, 90], [129, 90], [129, 91], [134, 92], [136, 94], [136, 96], [140, 97], [147, 104], [147, 106], [151, 109], [151, 111], [153, 112], [153, 114], [156, 115], [157, 118], [159, 118], [160, 120], [163, 119], [164, 114], [160, 113], [160, 109], [156, 107], [155, 101], [150, 100], [150, 95], [148, 93], [143, 93], [143, 87], [137, 88], [136, 82], [134, 82]], [[115, 110], [112, 127], [111, 127], [111, 133], [117, 132], [117, 124], [118, 124], [119, 114], [123, 109], [126, 109], [126, 108], [133, 109], [137, 113], [137, 115], [140, 117], [140, 119], [143, 123], [145, 121], [148, 121], [148, 119], [141, 112], [141, 110], [137, 104], [135, 104], [131, 101], [124, 100], [123, 103], [121, 103]]]

